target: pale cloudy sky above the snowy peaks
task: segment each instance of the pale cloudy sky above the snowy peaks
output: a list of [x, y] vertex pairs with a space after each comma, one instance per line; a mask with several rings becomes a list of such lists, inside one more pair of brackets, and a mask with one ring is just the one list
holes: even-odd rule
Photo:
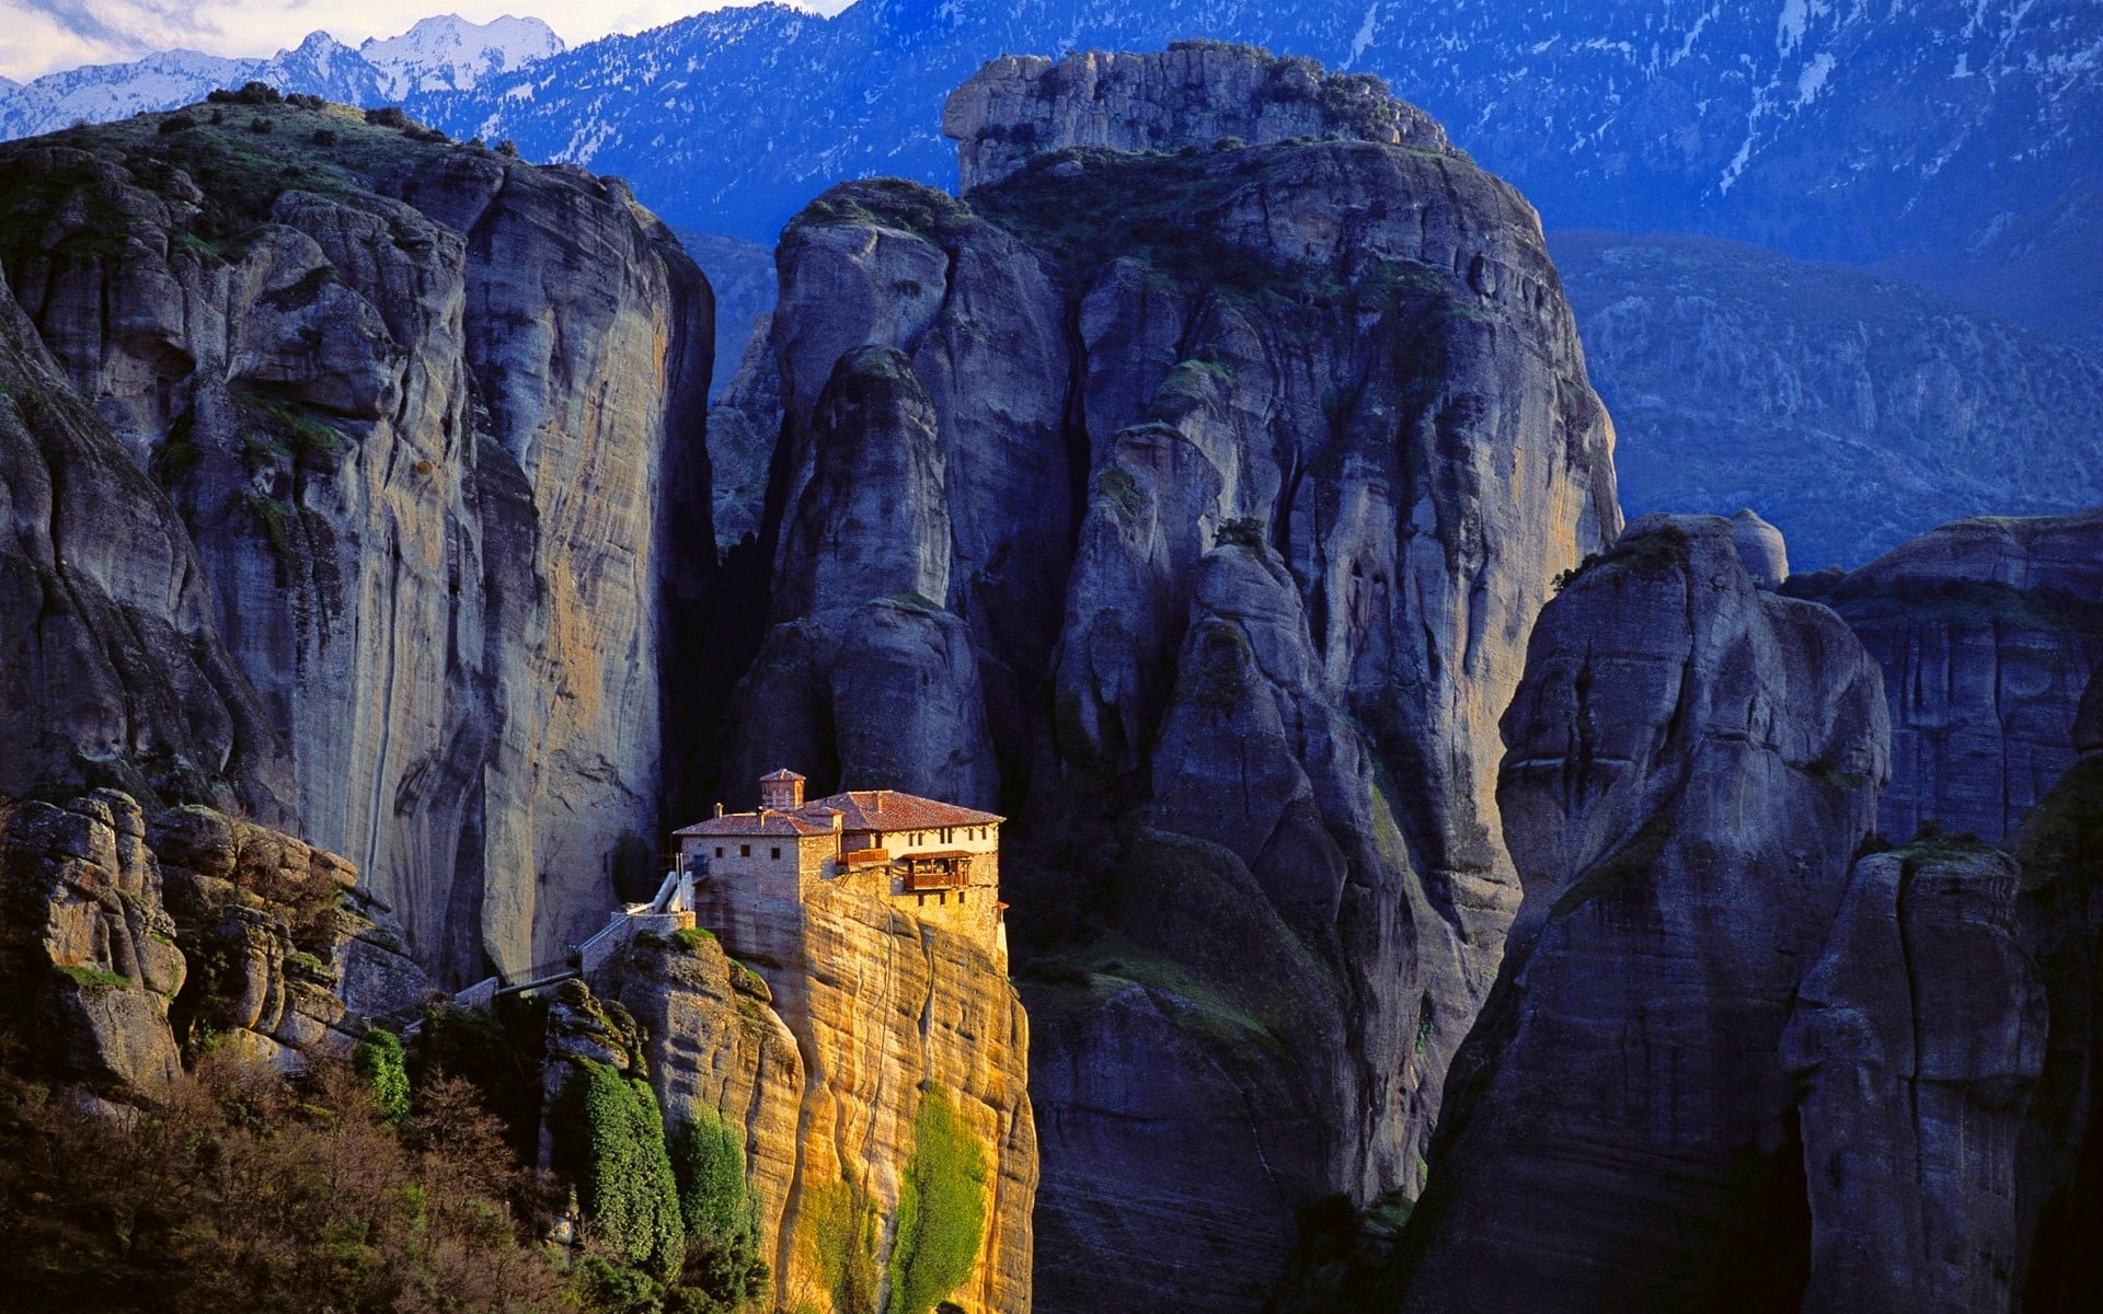
[[[740, 0], [0, 0], [0, 78], [27, 82], [82, 63], [120, 63], [185, 46], [206, 55], [267, 57], [322, 29], [355, 46], [408, 32], [416, 19], [456, 13], [486, 23], [540, 17], [576, 46], [608, 32], [641, 32]], [[744, 0], [749, 2], [749, 0]], [[795, 0], [839, 13], [850, 0]]]

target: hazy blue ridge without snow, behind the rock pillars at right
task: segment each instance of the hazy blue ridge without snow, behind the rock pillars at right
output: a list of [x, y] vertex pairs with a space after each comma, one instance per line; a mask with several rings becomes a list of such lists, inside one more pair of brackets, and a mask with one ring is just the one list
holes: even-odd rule
[[1867, 269], [1550, 233], [1630, 515], [1752, 507], [1796, 570], [2103, 502], [2103, 360]]

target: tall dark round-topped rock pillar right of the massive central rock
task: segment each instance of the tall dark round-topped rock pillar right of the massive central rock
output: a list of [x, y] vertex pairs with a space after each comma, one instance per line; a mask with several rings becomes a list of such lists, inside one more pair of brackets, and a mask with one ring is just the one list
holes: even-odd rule
[[1806, 1232], [1781, 1043], [1888, 774], [1876, 662], [1758, 591], [1729, 521], [1653, 515], [1541, 614], [1504, 732], [1527, 902], [1403, 1303], [1781, 1308]]

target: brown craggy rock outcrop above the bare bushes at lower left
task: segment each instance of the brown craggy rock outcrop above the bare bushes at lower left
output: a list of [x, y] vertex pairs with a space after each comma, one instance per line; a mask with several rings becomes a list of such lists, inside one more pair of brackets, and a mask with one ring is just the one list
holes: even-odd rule
[[[0, 997], [32, 1066], [145, 1102], [204, 1045], [297, 1068], [423, 1003], [334, 854], [208, 807], [151, 822], [124, 793], [0, 807]], [[368, 904], [370, 906], [370, 904]]]

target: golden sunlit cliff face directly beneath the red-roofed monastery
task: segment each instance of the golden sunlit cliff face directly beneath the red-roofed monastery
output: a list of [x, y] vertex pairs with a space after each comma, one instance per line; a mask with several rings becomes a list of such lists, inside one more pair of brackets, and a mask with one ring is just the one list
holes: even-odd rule
[[820, 889], [732, 908], [721, 942], [637, 944], [593, 984], [639, 1022], [669, 1127], [742, 1131], [782, 1308], [862, 1308], [862, 1280], [883, 1308], [921, 1104], [942, 1100], [986, 1167], [976, 1261], [951, 1299], [1030, 1310], [1028, 1022], [986, 948]]

